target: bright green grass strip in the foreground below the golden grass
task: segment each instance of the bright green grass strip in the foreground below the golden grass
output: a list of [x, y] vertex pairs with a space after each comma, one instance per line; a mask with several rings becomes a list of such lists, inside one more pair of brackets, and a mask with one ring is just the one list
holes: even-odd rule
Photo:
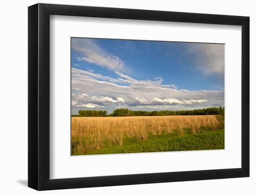
[[224, 149], [224, 129], [200, 131], [193, 134], [186, 130], [181, 136], [178, 131], [163, 134], [148, 134], [147, 140], [138, 141], [133, 138], [123, 137], [122, 145], [112, 144], [104, 141], [102, 148], [83, 150], [77, 149], [77, 145], [88, 141], [85, 137], [72, 138], [72, 155], [92, 154], [124, 154], [124, 153], [145, 153], [145, 152], [168, 152], [188, 150], [210, 150]]

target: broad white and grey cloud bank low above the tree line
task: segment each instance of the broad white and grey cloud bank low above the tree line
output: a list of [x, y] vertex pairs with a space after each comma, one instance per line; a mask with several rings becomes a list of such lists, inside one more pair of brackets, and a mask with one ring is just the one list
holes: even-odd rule
[[[116, 72], [116, 79], [72, 68], [72, 107], [90, 104], [100, 108], [128, 107], [136, 109], [212, 107], [224, 104], [224, 91], [177, 89], [163, 85], [162, 78], [135, 80]], [[124, 85], [126, 84], [126, 85]], [[128, 84], [128, 85], [127, 85]], [[174, 108], [173, 108], [174, 107]]]

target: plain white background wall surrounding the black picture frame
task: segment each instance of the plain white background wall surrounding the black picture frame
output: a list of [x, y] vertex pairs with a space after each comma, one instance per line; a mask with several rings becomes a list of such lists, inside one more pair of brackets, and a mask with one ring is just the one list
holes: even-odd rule
[[[253, 56], [256, 39], [256, 12], [252, 0], [41, 0], [41, 3], [73, 4], [84, 6], [123, 7], [177, 12], [215, 13], [250, 17], [250, 97], [256, 98], [253, 89], [256, 68]], [[0, 191], [1, 193], [36, 193], [27, 187], [27, 7], [36, 0], [3, 1], [0, 9]], [[251, 170], [250, 178], [210, 181], [187, 181], [118, 187], [98, 187], [46, 191], [44, 193], [256, 193], [256, 103], [251, 100]], [[253, 184], [254, 183], [254, 184]]]

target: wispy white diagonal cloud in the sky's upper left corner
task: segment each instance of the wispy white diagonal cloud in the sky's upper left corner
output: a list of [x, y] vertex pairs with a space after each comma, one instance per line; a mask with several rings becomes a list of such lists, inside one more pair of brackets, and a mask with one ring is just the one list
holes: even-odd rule
[[79, 61], [87, 61], [100, 67], [106, 67], [110, 70], [118, 70], [121, 72], [127, 71], [119, 57], [109, 54], [107, 51], [99, 47], [94, 40], [78, 39], [71, 40], [72, 48], [82, 54], [82, 57], [77, 57]]

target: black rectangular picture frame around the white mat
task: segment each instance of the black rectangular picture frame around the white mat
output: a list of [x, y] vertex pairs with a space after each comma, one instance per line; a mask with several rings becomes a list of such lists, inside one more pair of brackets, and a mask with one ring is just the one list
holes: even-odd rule
[[[242, 167], [152, 174], [50, 179], [50, 15], [242, 26]], [[28, 7], [28, 187], [102, 187], [249, 176], [249, 17], [108, 7], [36, 4]]]

